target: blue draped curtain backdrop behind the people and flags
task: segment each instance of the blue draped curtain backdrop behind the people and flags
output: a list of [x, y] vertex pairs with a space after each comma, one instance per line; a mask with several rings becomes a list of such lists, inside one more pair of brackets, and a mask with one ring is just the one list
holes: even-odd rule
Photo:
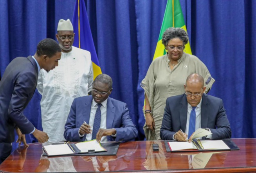
[[[155, 52], [167, 0], [88, 0], [88, 19], [103, 73], [113, 78], [111, 96], [128, 104], [143, 140], [144, 92], [139, 86]], [[192, 53], [215, 78], [210, 95], [224, 101], [232, 137], [256, 137], [254, 57], [256, 1], [180, 0]], [[55, 39], [59, 19], [72, 19], [74, 0], [0, 1], [0, 74], [37, 43]], [[40, 94], [25, 110], [41, 129]], [[62, 135], [62, 134], [60, 134]], [[32, 135], [28, 142], [35, 141]]]

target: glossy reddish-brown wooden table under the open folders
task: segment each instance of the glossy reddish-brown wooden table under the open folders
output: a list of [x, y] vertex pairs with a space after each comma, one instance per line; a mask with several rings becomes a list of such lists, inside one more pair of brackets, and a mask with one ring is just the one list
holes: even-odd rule
[[[17, 148], [1, 165], [0, 172], [254, 172], [256, 139], [232, 139], [240, 150], [226, 152], [166, 152], [164, 141], [121, 143], [114, 156], [44, 157], [42, 145]], [[152, 144], [159, 151], [152, 151]], [[98, 165], [95, 166], [95, 163]]]

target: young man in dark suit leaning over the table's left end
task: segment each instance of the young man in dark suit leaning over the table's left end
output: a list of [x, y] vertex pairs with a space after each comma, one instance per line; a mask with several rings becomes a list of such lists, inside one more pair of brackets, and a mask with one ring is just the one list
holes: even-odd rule
[[0, 81], [0, 163], [11, 153], [14, 128], [19, 136], [18, 142], [25, 145], [24, 134], [33, 134], [40, 143], [49, 139], [45, 132], [32, 125], [23, 110], [34, 94], [40, 69], [54, 69], [60, 57], [58, 43], [53, 39], [43, 39], [34, 56], [17, 57], [5, 69]]

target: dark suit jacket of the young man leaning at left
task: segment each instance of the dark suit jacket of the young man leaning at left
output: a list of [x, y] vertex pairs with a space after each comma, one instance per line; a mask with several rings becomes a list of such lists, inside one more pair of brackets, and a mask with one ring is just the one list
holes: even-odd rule
[[14, 141], [16, 125], [23, 134], [34, 130], [23, 109], [34, 94], [37, 78], [38, 67], [31, 56], [17, 57], [5, 69], [0, 81], [0, 142]]

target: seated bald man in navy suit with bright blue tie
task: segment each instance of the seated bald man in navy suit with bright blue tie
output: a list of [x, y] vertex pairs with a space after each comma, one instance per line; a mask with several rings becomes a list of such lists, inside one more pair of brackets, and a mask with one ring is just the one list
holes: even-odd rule
[[231, 128], [223, 102], [220, 98], [204, 94], [204, 78], [191, 74], [184, 87], [185, 94], [166, 100], [161, 139], [186, 141], [198, 128], [212, 132], [206, 139], [230, 138]]

